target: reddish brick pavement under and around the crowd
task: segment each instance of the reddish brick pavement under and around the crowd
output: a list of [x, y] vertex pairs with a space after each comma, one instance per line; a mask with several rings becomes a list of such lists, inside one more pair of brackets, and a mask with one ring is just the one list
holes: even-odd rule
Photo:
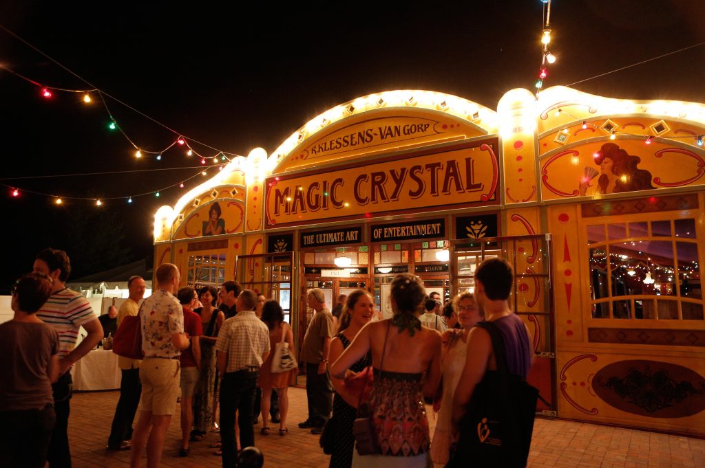
[[[264, 466], [327, 467], [329, 457], [321, 452], [318, 436], [297, 426], [307, 417], [306, 391], [290, 388], [289, 398], [289, 434], [278, 436], [277, 426], [270, 423], [275, 430], [270, 436], [260, 436], [261, 423], [255, 426], [255, 440], [264, 453]], [[74, 394], [68, 428], [73, 467], [128, 466], [129, 452], [105, 450], [117, 400], [117, 391]], [[434, 422], [431, 417], [431, 426]], [[210, 433], [204, 441], [192, 442], [188, 457], [178, 457], [179, 440], [179, 417], [176, 415], [166, 436], [161, 466], [221, 467], [221, 458], [212, 455], [213, 449], [208, 448], [218, 440], [217, 434]], [[143, 466], [146, 466], [146, 460]], [[705, 440], [560, 419], [537, 419], [529, 467], [700, 468], [705, 467]]]

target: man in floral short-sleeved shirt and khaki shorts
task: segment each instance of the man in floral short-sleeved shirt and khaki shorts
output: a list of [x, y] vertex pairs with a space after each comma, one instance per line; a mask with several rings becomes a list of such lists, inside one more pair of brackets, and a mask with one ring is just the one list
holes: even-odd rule
[[[164, 436], [176, 410], [180, 384], [178, 357], [190, 341], [183, 331], [183, 308], [173, 296], [181, 275], [176, 265], [164, 263], [157, 268], [157, 291], [140, 307], [142, 352], [140, 365], [142, 398], [140, 419], [133, 431], [130, 467], [139, 468], [142, 450], [147, 445], [147, 467], [157, 468], [164, 448]], [[147, 441], [149, 438], [149, 441]]]

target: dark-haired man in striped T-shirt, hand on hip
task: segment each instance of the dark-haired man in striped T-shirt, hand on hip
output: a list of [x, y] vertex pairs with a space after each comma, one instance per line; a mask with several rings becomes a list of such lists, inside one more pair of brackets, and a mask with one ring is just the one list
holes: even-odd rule
[[[66, 252], [45, 248], [37, 253], [33, 270], [54, 279], [54, 289], [49, 301], [42, 305], [37, 317], [59, 332], [59, 381], [51, 386], [54, 393], [56, 425], [51, 435], [47, 461], [50, 468], [71, 467], [68, 448], [68, 413], [71, 400], [71, 366], [95, 348], [103, 338], [103, 327], [98, 315], [81, 293], [66, 287], [71, 273], [71, 261]], [[83, 327], [88, 335], [76, 346], [78, 331]]]

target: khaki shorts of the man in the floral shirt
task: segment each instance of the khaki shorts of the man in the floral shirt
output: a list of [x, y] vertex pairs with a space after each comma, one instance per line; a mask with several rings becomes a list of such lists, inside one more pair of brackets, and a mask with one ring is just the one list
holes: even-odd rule
[[166, 416], [176, 412], [180, 382], [178, 359], [145, 358], [140, 366], [140, 410]]

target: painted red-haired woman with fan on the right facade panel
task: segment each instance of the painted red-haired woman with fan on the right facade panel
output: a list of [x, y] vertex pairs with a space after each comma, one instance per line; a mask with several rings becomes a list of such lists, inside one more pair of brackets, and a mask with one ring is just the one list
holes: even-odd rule
[[[656, 187], [651, 184], [651, 172], [637, 168], [642, 162], [639, 156], [627, 154], [617, 144], [606, 143], [594, 154], [597, 172], [585, 167], [584, 177], [578, 186], [580, 195], [618, 194], [625, 191], [648, 190]], [[594, 177], [596, 184], [591, 184]]]

